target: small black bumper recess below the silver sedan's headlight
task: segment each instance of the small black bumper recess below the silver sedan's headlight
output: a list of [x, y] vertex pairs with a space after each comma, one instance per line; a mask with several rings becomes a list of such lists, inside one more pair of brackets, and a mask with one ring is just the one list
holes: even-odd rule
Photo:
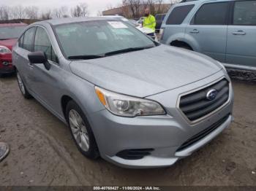
[[116, 156], [127, 160], [138, 160], [147, 155], [150, 155], [154, 149], [127, 149], [118, 152]]

